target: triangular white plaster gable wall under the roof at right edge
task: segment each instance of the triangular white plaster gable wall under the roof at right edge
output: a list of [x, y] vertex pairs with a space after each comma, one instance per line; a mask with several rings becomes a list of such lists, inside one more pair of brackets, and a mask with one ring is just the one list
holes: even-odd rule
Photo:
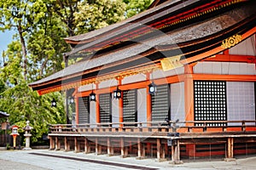
[[230, 48], [230, 54], [238, 55], [256, 55], [255, 50], [255, 36], [248, 37], [243, 42], [240, 42], [235, 47]]

